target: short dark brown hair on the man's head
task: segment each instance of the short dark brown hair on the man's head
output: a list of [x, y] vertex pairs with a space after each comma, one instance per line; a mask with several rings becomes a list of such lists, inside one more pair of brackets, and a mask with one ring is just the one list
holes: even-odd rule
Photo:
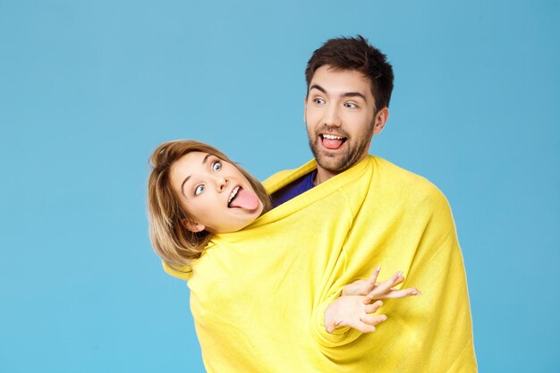
[[389, 107], [393, 92], [393, 67], [387, 62], [386, 55], [372, 47], [368, 39], [358, 35], [356, 38], [331, 38], [318, 48], [305, 69], [307, 90], [313, 74], [321, 66], [329, 65], [339, 70], [356, 70], [371, 81], [371, 93], [375, 98], [376, 109]]

